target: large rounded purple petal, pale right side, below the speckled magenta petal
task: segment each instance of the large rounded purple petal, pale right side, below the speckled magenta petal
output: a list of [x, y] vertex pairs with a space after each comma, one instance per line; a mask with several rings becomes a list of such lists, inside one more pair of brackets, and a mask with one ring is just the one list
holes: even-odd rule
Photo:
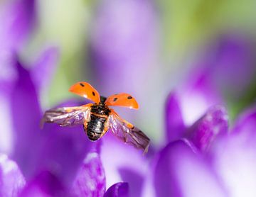
[[181, 140], [160, 152], [154, 173], [156, 196], [225, 196], [208, 164]]

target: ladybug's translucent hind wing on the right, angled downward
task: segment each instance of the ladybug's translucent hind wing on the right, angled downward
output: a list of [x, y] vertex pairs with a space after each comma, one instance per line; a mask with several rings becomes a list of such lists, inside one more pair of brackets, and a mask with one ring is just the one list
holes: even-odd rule
[[144, 150], [146, 153], [149, 149], [149, 137], [147, 137], [141, 130], [134, 127], [126, 120], [122, 120], [117, 113], [112, 111], [110, 114], [110, 128], [112, 133], [123, 142], [136, 147], [137, 149]]

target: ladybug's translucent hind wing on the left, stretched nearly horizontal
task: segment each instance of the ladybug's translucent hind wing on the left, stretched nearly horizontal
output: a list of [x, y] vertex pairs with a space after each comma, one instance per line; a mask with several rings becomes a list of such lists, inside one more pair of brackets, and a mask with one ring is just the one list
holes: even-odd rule
[[53, 108], [44, 114], [41, 125], [57, 123], [60, 126], [82, 125], [90, 120], [90, 106]]

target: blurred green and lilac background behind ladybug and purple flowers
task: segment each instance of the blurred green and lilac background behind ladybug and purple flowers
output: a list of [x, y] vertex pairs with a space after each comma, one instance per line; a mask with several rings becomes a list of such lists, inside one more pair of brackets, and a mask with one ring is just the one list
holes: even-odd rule
[[[15, 2], [23, 6], [10, 11]], [[253, 0], [1, 0], [0, 91], [8, 89], [1, 82], [11, 79], [6, 57], [15, 48], [23, 66], [39, 76], [34, 65], [42, 54], [42, 62], [52, 64], [39, 92], [43, 111], [69, 99], [82, 101], [68, 89], [87, 81], [102, 96], [132, 94], [139, 110], [116, 111], [154, 147], [166, 142], [166, 101], [174, 91], [183, 95], [186, 126], [211, 104], [221, 104], [232, 127], [255, 104], [255, 7]], [[11, 113], [3, 95], [0, 148], [10, 152]]]

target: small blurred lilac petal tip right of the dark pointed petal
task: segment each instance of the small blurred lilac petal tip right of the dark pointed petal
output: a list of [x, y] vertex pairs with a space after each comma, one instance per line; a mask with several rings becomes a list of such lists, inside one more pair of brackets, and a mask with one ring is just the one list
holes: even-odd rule
[[31, 70], [31, 77], [38, 91], [46, 89], [55, 73], [59, 52], [57, 47], [46, 49]]

